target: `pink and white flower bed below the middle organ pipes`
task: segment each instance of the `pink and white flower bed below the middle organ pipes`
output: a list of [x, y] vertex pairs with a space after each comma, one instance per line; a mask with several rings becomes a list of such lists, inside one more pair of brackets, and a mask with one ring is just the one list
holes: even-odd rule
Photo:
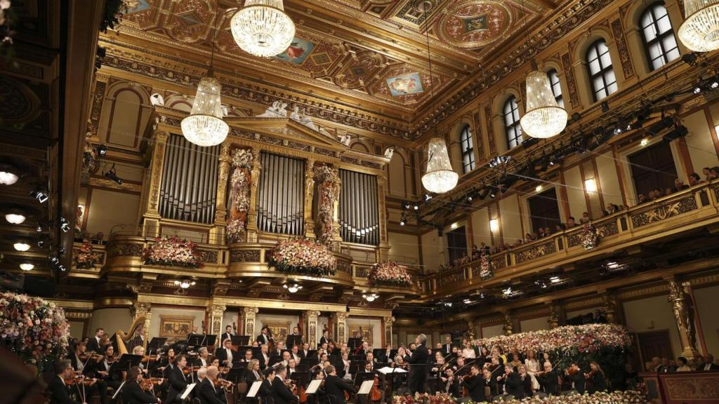
[[323, 277], [334, 275], [337, 259], [321, 242], [291, 239], [270, 250], [267, 266], [280, 272]]

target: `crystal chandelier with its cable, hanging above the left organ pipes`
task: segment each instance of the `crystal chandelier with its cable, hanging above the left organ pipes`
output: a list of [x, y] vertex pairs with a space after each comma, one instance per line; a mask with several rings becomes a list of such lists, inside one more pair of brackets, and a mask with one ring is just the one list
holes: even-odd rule
[[[219, 2], [217, 5], [219, 10]], [[212, 37], [212, 52], [210, 55], [210, 68], [207, 77], [201, 79], [197, 86], [195, 101], [192, 104], [192, 111], [189, 116], [180, 122], [182, 134], [188, 142], [198, 146], [209, 147], [224, 142], [229, 133], [229, 125], [222, 120], [222, 100], [220, 93], [222, 86], [213, 77], [212, 61], [215, 55], [215, 36], [217, 32], [217, 20]]]

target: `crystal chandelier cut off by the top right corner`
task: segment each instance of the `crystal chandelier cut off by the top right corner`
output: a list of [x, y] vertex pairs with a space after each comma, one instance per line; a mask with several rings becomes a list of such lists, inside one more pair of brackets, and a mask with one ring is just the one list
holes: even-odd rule
[[677, 34], [695, 52], [719, 49], [719, 0], [685, 0], [684, 22]]

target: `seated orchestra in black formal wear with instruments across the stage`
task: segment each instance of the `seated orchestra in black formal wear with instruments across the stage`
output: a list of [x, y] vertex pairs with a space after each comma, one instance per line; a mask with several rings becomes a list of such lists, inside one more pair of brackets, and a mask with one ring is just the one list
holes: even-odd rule
[[[272, 398], [275, 404], [317, 404], [328, 396], [338, 404], [352, 400], [365, 404], [424, 391], [441, 392], [464, 403], [608, 390], [597, 362], [588, 369], [574, 362], [559, 367], [561, 358], [551, 358], [546, 352], [508, 349], [505, 353], [499, 346], [477, 346], [473, 339], [464, 341], [464, 349], [449, 337], [428, 349], [427, 337], [419, 334], [409, 346], [393, 349], [387, 344], [372, 349], [362, 334], [339, 343], [325, 329], [324, 339], [313, 350], [297, 328], [292, 338], [283, 334], [277, 341], [266, 326], [254, 341], [233, 331], [237, 331], [234, 323], [226, 327], [222, 338], [212, 339], [216, 346], [204, 341], [198, 346], [163, 341], [147, 349], [143, 339], [127, 359], [99, 328], [87, 343], [71, 344], [67, 360], [57, 362], [58, 382], [48, 387], [50, 402], [79, 404], [97, 397], [99, 404], [114, 404], [116, 397], [122, 397], [124, 403], [132, 404], [183, 404], [180, 396], [193, 384], [187, 398], [201, 404], [254, 404], [262, 398]], [[191, 334], [197, 335], [202, 334]], [[236, 346], [237, 341], [252, 345]], [[285, 341], [290, 345], [285, 347]], [[307, 394], [311, 380], [322, 382], [316, 392]], [[367, 395], [358, 395], [365, 380], [372, 380], [372, 388]], [[255, 382], [262, 382], [257, 394], [246, 397]]]

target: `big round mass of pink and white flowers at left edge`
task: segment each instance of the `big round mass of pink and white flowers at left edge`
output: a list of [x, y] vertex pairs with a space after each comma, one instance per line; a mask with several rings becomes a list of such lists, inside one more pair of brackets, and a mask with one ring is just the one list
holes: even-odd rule
[[0, 339], [4, 346], [41, 370], [45, 359], [63, 357], [68, 346], [63, 309], [47, 300], [0, 293]]

